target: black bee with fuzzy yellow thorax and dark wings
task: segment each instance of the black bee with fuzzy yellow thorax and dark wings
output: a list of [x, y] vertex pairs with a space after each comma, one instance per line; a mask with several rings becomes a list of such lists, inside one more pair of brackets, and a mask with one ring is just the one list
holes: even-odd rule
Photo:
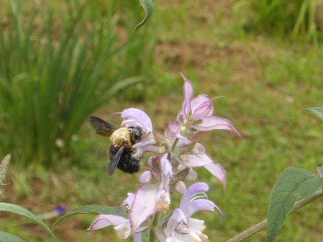
[[117, 128], [99, 117], [90, 116], [89, 123], [95, 133], [101, 136], [110, 136], [109, 148], [111, 162], [107, 166], [108, 176], [112, 176], [116, 167], [127, 173], [137, 172], [140, 168], [140, 158], [132, 156], [132, 146], [140, 141], [145, 135], [140, 127]]

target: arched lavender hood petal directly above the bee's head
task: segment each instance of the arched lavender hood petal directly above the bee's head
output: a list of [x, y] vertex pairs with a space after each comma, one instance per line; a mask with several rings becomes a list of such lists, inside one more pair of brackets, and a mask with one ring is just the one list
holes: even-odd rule
[[152, 124], [149, 116], [142, 110], [137, 108], [128, 108], [121, 112], [121, 116], [125, 119], [134, 119], [145, 130], [146, 133], [152, 132]]

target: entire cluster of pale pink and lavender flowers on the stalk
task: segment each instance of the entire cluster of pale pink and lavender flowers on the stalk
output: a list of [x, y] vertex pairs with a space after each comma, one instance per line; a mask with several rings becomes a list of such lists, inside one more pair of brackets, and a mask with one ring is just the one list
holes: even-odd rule
[[[181, 74], [182, 75], [182, 74]], [[128, 193], [123, 202], [129, 218], [116, 215], [98, 215], [88, 228], [99, 229], [113, 225], [117, 237], [134, 241], [141, 240], [141, 232], [153, 229], [155, 238], [160, 242], [175, 241], [209, 241], [202, 233], [204, 221], [192, 218], [200, 210], [214, 211], [219, 207], [207, 199], [209, 186], [205, 183], [195, 183], [186, 189], [185, 183], [195, 180], [197, 173], [194, 167], [203, 166], [213, 176], [217, 177], [224, 188], [226, 185], [226, 170], [219, 163], [205, 154], [205, 148], [197, 143], [198, 132], [209, 130], [229, 130], [240, 136], [230, 120], [213, 116], [213, 100], [201, 94], [193, 98], [192, 83], [184, 79], [184, 102], [176, 122], [171, 123], [164, 136], [155, 132], [149, 116], [142, 110], [129, 108], [121, 112], [124, 127], [140, 126], [148, 134], [133, 148], [135, 157], [140, 158], [145, 152], [153, 152], [149, 158], [148, 167], [140, 177], [141, 183], [135, 194]], [[178, 208], [170, 212], [173, 193], [182, 195]], [[159, 212], [168, 213], [153, 223]], [[159, 216], [160, 217], [160, 216]]]

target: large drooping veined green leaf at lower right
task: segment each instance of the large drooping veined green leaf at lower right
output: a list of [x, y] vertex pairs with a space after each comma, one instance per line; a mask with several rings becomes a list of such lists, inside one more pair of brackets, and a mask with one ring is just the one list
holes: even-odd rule
[[278, 178], [268, 209], [267, 242], [273, 242], [287, 214], [299, 198], [323, 186], [323, 178], [307, 170], [289, 167]]

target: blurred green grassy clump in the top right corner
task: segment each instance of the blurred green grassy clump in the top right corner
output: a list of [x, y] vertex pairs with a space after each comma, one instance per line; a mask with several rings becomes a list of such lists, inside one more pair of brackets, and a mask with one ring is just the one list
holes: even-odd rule
[[318, 3], [319, 0], [239, 0], [235, 8], [247, 28], [316, 42], [320, 31], [315, 17], [321, 14], [316, 9]]

